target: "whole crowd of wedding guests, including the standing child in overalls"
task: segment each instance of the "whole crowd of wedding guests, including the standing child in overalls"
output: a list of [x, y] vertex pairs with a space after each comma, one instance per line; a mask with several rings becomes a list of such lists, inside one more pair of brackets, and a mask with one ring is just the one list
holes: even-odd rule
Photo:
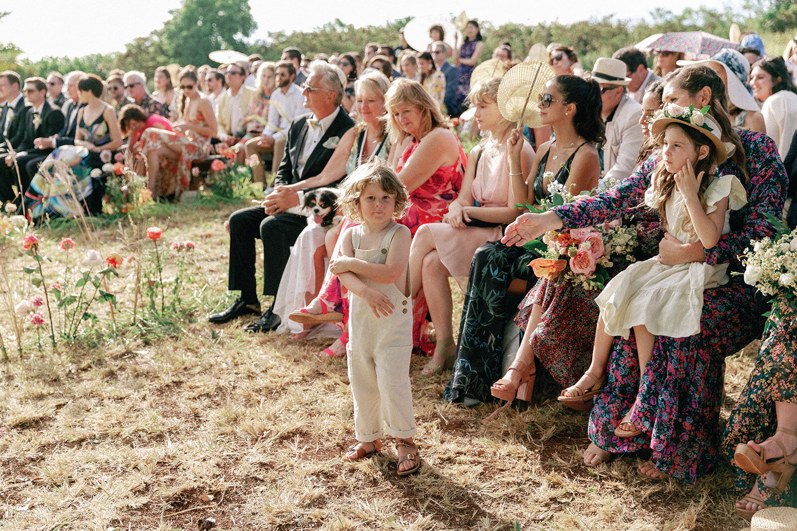
[[[159, 68], [152, 94], [143, 72], [105, 81], [53, 72], [24, 85], [2, 72], [0, 140], [10, 150], [0, 199], [21, 201], [22, 190], [42, 203], [52, 192], [36, 178], [45, 158], [96, 168], [124, 139], [153, 197], [175, 197], [210, 146], [238, 145], [255, 181], [265, 183], [269, 168], [275, 178], [260, 205], [227, 221], [228, 287], [239, 295], [210, 322], [255, 314], [245, 330], [334, 338], [316, 356], [348, 358], [357, 439], [348, 460], [379, 451], [387, 422], [399, 474], [418, 469], [408, 392], [414, 350], [430, 356], [423, 373], [446, 375], [443, 399], [457, 404], [530, 400], [537, 371], [549, 373], [563, 404], [591, 408], [589, 467], [647, 451], [640, 474], [693, 483], [724, 455], [746, 493], [736, 512], [749, 519], [792, 505], [797, 464], [788, 338], [764, 342], [724, 434], [719, 423], [724, 358], [762, 336], [769, 305], [730, 273], [741, 271], [738, 256], [751, 241], [771, 235], [768, 219], [797, 217], [787, 201], [797, 174], [795, 56], [766, 57], [755, 37], [701, 61], [656, 50], [654, 68], [629, 47], [590, 70], [574, 49], [552, 43], [556, 75], [530, 103], [542, 123], [534, 130], [501, 114], [500, 75], [471, 83], [485, 52], [477, 21], [455, 47], [432, 26], [422, 51], [406, 41], [398, 49], [371, 43], [362, 55], [306, 62], [289, 48], [276, 64], [252, 56], [219, 68]], [[513, 55], [509, 43], [493, 51], [506, 68], [518, 62]], [[468, 106], [481, 141], [465, 154], [450, 118]], [[705, 118], [690, 122], [701, 110]], [[343, 209], [324, 218], [338, 193], [329, 199], [325, 189], [344, 178]], [[89, 176], [81, 185], [88, 208], [101, 209], [103, 183]], [[591, 196], [541, 214], [524, 206], [543, 205], [559, 189]], [[617, 281], [603, 293], [534, 275], [529, 263], [540, 252], [523, 244], [604, 223], [633, 228], [639, 264], [611, 267]], [[465, 294], [456, 340], [450, 277]], [[508, 303], [518, 283], [520, 306]], [[628, 292], [659, 296], [672, 286], [687, 288], [675, 301], [683, 314], [670, 303], [642, 311]], [[265, 311], [260, 295], [272, 299]], [[523, 333], [506, 357], [512, 322]], [[382, 345], [397, 357], [385, 360]], [[381, 411], [373, 407], [380, 395]]]

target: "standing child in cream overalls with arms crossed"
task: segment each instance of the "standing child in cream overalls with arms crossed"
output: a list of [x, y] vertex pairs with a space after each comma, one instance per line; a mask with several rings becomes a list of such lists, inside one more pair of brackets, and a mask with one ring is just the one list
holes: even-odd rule
[[329, 263], [349, 297], [346, 355], [357, 443], [344, 460], [381, 450], [387, 424], [384, 431], [396, 439], [398, 475], [411, 474], [420, 456], [412, 440], [410, 229], [396, 223], [409, 194], [379, 158], [360, 166], [342, 186], [344, 215], [361, 222], [340, 236], [340, 255]]

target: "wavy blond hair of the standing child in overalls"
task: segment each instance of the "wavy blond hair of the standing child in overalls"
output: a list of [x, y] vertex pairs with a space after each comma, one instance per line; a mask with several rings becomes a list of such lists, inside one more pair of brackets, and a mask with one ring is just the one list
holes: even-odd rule
[[352, 221], [363, 221], [363, 212], [360, 209], [359, 197], [367, 185], [377, 184], [387, 193], [396, 197], [393, 219], [397, 220], [404, 215], [406, 207], [410, 204], [410, 194], [406, 191], [404, 183], [398, 174], [381, 158], [374, 158], [371, 162], [359, 166], [356, 170], [340, 183], [344, 193], [338, 199], [338, 206], [343, 210], [344, 216]]

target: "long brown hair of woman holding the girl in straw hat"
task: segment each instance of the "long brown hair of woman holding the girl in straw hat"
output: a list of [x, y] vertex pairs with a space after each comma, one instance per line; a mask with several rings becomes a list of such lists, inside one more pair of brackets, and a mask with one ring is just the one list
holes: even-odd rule
[[733, 150], [733, 162], [739, 166], [739, 174], [736, 177], [747, 184], [747, 156], [744, 154], [744, 146], [742, 146], [742, 139], [736, 131], [733, 131], [731, 119], [728, 118], [728, 97], [725, 95], [725, 84], [708, 66], [702, 64], [695, 64], [693, 66], [685, 66], [678, 68], [664, 78], [665, 87], [669, 84], [676, 84], [678, 87], [683, 88], [689, 93], [689, 96], [694, 96], [702, 88], [708, 87], [711, 89], [711, 110], [709, 115], [717, 122], [722, 130], [722, 139], [724, 142], [730, 142], [736, 148]]

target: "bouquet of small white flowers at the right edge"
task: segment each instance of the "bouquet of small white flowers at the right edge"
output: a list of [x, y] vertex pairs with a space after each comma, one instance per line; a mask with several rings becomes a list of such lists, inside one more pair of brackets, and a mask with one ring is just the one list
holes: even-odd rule
[[[744, 282], [765, 295], [776, 295], [797, 311], [797, 229], [787, 232], [781, 225], [778, 234], [753, 243], [741, 256], [745, 265]], [[782, 318], [772, 306], [772, 314]]]

